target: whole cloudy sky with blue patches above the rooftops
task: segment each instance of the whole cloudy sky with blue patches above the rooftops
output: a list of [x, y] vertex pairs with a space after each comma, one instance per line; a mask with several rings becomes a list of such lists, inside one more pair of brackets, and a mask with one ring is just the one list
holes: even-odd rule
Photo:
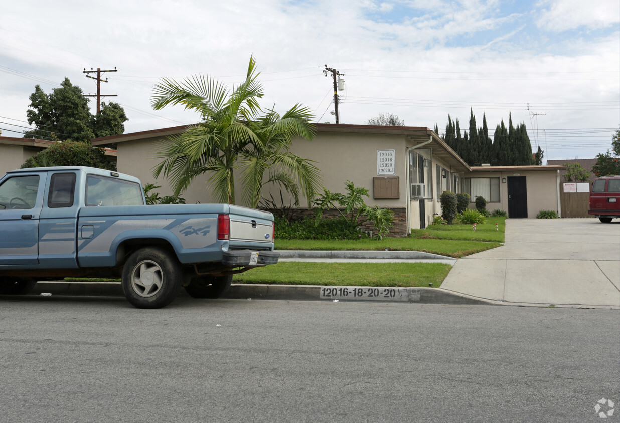
[[[238, 84], [254, 55], [263, 107], [295, 103], [316, 121], [363, 124], [394, 113], [445, 131], [448, 113], [489, 132], [512, 114], [547, 159], [588, 159], [620, 125], [618, 0], [1, 0], [0, 129], [20, 137], [36, 84], [64, 77], [94, 94], [83, 69], [107, 72], [125, 132], [195, 123], [182, 107], [151, 108], [161, 77], [194, 74]], [[529, 105], [529, 110], [528, 110]], [[91, 101], [94, 110], [95, 101]], [[17, 132], [11, 132], [17, 131]]]

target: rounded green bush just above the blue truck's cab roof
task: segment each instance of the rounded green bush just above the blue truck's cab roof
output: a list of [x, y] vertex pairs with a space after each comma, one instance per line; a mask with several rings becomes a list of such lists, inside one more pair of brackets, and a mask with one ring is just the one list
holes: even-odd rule
[[115, 163], [105, 155], [104, 149], [93, 147], [90, 142], [78, 141], [56, 142], [26, 160], [22, 169], [48, 166], [87, 166], [117, 170]]

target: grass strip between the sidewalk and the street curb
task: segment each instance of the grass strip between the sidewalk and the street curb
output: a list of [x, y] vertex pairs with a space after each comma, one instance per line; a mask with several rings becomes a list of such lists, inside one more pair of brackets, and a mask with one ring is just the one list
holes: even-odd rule
[[285, 261], [233, 276], [234, 284], [438, 287], [443, 263], [307, 263]]

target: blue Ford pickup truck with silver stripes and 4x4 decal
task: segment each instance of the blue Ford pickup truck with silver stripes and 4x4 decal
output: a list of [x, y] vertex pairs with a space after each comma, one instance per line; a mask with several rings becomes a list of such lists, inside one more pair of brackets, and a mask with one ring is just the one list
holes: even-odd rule
[[231, 204], [146, 205], [137, 178], [45, 167], [0, 179], [0, 294], [37, 281], [121, 279], [135, 307], [164, 307], [183, 286], [216, 298], [232, 275], [275, 264], [273, 215]]

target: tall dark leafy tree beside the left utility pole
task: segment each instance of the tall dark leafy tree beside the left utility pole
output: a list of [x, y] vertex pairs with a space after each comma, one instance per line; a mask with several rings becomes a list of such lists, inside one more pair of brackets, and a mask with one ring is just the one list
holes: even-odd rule
[[88, 142], [95, 137], [125, 132], [123, 122], [127, 116], [117, 103], [102, 103], [100, 114], [91, 115], [89, 99], [84, 97], [80, 87], [71, 84], [68, 78], [60, 85], [50, 94], [35, 85], [26, 111], [28, 123], [34, 124], [35, 129], [25, 131], [24, 137]]

